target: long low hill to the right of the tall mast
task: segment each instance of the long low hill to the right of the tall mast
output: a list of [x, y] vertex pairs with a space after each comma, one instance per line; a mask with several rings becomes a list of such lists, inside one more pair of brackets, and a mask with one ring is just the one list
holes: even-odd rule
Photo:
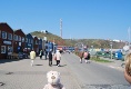
[[122, 49], [123, 46], [125, 46], [125, 42], [115, 42], [104, 39], [64, 39], [66, 43], [69, 46], [75, 46], [77, 43], [83, 43], [87, 47], [93, 47], [93, 48], [105, 48], [110, 49], [111, 43], [113, 49]]

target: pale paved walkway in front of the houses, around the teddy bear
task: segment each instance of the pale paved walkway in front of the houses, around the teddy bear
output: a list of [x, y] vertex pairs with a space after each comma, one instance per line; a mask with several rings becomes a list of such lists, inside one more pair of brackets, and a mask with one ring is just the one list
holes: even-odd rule
[[1, 63], [0, 60], [0, 89], [42, 89], [47, 85], [47, 72], [56, 70], [61, 73], [61, 82], [66, 89], [81, 89], [71, 75], [67, 63], [61, 60], [61, 67], [49, 67], [48, 60], [37, 59], [34, 66], [30, 66], [30, 59], [21, 59]]

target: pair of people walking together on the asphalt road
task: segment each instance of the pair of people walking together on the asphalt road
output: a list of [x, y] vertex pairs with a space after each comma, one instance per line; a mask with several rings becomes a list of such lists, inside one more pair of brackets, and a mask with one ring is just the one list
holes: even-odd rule
[[84, 59], [85, 63], [90, 63], [90, 53], [88, 51], [80, 52], [80, 63], [82, 63], [82, 59]]

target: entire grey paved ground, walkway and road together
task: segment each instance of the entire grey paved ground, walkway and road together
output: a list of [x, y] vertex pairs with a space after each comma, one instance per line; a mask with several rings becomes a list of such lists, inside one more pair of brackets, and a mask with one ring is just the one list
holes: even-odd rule
[[[42, 89], [47, 85], [46, 73], [57, 70], [67, 89], [130, 89], [122, 69], [111, 68], [110, 63], [79, 63], [75, 55], [62, 55], [61, 67], [48, 66], [48, 60], [30, 59], [0, 60], [0, 89]], [[2, 85], [2, 83], [3, 85]]]

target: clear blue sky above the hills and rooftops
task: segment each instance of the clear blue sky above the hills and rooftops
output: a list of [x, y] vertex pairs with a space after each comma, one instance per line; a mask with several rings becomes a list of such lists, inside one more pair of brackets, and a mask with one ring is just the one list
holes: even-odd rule
[[64, 39], [129, 40], [131, 0], [0, 0], [0, 22], [24, 33], [48, 30]]

